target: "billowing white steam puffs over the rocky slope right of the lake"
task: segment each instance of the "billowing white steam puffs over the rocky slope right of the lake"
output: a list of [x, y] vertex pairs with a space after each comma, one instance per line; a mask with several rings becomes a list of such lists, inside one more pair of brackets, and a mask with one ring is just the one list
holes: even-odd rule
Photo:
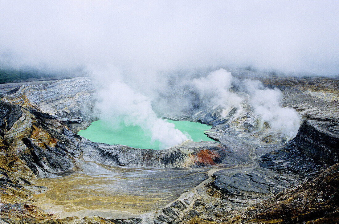
[[[278, 88], [266, 88], [258, 80], [237, 80], [222, 68], [209, 73], [205, 78], [193, 79], [192, 83], [201, 98], [208, 100], [203, 102], [206, 106], [223, 108], [224, 113], [221, 116], [226, 116], [232, 108], [237, 108], [237, 113], [240, 114], [245, 110], [242, 102], [246, 101], [258, 116], [261, 129], [264, 122], [267, 122], [272, 133], [286, 138], [297, 134], [300, 126], [299, 115], [293, 108], [280, 106], [283, 95]], [[249, 99], [231, 91], [234, 85], [240, 86], [249, 95]]]

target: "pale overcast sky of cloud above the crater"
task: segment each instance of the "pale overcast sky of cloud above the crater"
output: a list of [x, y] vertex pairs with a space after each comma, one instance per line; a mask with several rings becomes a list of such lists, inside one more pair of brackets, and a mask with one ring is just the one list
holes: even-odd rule
[[1, 66], [339, 74], [338, 1], [1, 1]]

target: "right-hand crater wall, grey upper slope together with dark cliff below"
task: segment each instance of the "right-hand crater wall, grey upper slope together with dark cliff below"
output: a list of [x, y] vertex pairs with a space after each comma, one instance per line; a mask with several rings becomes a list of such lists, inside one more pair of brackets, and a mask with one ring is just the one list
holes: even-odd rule
[[265, 154], [260, 166], [301, 176], [338, 161], [339, 81], [328, 78], [261, 77], [266, 86], [281, 89], [284, 106], [303, 118], [294, 139]]

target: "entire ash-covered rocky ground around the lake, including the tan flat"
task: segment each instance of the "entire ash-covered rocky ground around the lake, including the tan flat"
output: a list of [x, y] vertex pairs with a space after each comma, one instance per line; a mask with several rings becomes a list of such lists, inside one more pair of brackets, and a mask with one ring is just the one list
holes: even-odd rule
[[[98, 119], [89, 78], [1, 84], [1, 223], [338, 221], [339, 81], [232, 75], [262, 84], [253, 90], [233, 82], [206, 90], [208, 97], [177, 89], [192, 107], [161, 110], [164, 118], [211, 125], [206, 134], [217, 142], [186, 140], [163, 150], [77, 135]], [[204, 81], [222, 82], [194, 80]], [[260, 101], [277, 91], [277, 105]], [[224, 101], [216, 107], [211, 99]], [[289, 111], [301, 123], [294, 134]]]

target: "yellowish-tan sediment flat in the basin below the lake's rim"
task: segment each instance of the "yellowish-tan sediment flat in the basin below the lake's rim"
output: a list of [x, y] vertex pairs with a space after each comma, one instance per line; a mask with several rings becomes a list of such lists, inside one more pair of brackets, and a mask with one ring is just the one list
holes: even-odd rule
[[[126, 172], [128, 172], [126, 170]], [[117, 174], [115, 179], [128, 179]], [[33, 195], [33, 204], [48, 210], [59, 218], [67, 216], [88, 216], [95, 212], [98, 216], [106, 217], [108, 212], [133, 213], [135, 215], [160, 209], [174, 198], [171, 192], [147, 193], [147, 189], [135, 192], [134, 188], [108, 187], [115, 183], [112, 175], [87, 176], [84, 174], [72, 174], [63, 178], [39, 179], [37, 184], [48, 187], [41, 194]], [[111, 178], [111, 179], [110, 179]], [[113, 178], [114, 179], [114, 178]], [[141, 179], [136, 177], [136, 179]], [[146, 186], [136, 186], [146, 188]], [[108, 214], [109, 215], [109, 214]]]

